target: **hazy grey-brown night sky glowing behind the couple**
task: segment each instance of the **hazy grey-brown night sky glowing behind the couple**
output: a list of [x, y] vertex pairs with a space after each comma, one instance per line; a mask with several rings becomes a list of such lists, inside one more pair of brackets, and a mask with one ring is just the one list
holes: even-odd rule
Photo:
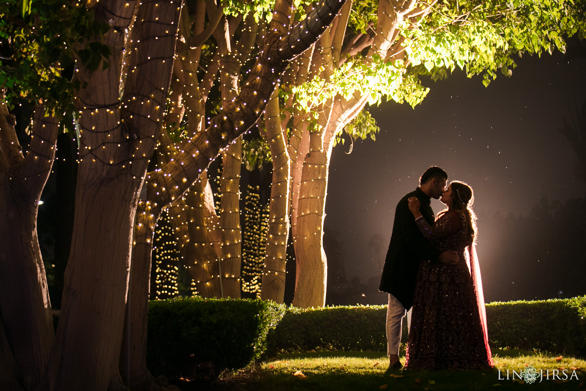
[[[502, 216], [529, 216], [544, 199], [564, 203], [584, 198], [586, 192], [575, 152], [558, 131], [563, 118], [570, 118], [568, 107], [575, 113], [586, 99], [586, 62], [568, 63], [562, 53], [554, 52], [541, 58], [524, 56], [517, 64], [512, 77], [500, 75], [488, 88], [481, 77], [468, 79], [459, 70], [445, 80], [424, 81], [431, 91], [415, 109], [393, 102], [369, 109], [380, 127], [376, 141], [355, 142], [349, 155], [345, 153], [349, 140], [333, 149], [324, 229], [326, 254], [337, 254], [336, 259], [329, 257], [330, 268], [343, 268], [348, 279], [359, 277], [358, 289], [370, 292], [364, 302], [384, 302], [376, 288], [394, 208], [431, 165], [441, 166], [449, 181], [464, 181], [475, 192], [477, 249], [487, 301], [586, 294], [583, 280], [564, 285], [563, 273], [551, 271], [555, 265], [545, 267], [544, 260], [533, 259], [539, 258], [539, 252], [524, 257], [517, 251], [513, 256], [510, 248], [515, 247], [500, 243], [520, 235], [521, 239], [515, 239], [519, 246], [528, 250], [540, 246], [537, 242], [543, 239], [537, 234], [532, 234], [536, 243], [523, 238], [524, 229], [509, 225], [514, 219], [503, 220]], [[432, 200], [432, 208], [437, 213], [444, 205]], [[531, 232], [540, 228], [533, 224]], [[576, 241], [569, 246], [581, 247]], [[570, 265], [564, 267], [584, 264], [585, 259], [580, 258], [568, 259]], [[523, 273], [531, 277], [519, 278]], [[543, 288], [532, 287], [532, 281]], [[564, 294], [554, 290], [558, 285]]]

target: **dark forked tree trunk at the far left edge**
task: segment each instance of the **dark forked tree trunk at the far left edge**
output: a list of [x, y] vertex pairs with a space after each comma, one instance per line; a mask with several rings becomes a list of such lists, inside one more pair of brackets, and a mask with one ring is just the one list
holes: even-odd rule
[[56, 151], [57, 120], [40, 105], [23, 155], [14, 116], [0, 93], [0, 385], [30, 390], [45, 372], [54, 339], [36, 231], [39, 200]]

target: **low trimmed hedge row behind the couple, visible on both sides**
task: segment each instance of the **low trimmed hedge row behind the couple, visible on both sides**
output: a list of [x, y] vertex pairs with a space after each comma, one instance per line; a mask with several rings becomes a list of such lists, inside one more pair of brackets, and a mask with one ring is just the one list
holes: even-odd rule
[[[386, 351], [386, 305], [288, 308], [268, 335], [269, 355], [311, 350]], [[490, 346], [586, 356], [586, 296], [486, 305]], [[405, 322], [406, 323], [406, 322]], [[403, 338], [407, 328], [403, 327]]]

